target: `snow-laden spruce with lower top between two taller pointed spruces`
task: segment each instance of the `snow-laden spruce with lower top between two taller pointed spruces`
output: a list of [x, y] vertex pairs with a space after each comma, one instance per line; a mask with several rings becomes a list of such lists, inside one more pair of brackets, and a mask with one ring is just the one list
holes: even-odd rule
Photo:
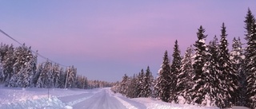
[[214, 36], [214, 40], [207, 45], [206, 63], [203, 67], [206, 73], [205, 90], [207, 92], [203, 105], [216, 106], [218, 99], [222, 98], [219, 89], [218, 50], [218, 38]]

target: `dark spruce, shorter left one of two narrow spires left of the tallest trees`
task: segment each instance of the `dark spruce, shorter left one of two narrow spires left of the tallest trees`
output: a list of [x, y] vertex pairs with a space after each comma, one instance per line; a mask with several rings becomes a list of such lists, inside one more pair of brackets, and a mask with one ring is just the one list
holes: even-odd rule
[[169, 102], [170, 99], [170, 81], [170, 61], [166, 51], [155, 84], [156, 96], [164, 102]]

